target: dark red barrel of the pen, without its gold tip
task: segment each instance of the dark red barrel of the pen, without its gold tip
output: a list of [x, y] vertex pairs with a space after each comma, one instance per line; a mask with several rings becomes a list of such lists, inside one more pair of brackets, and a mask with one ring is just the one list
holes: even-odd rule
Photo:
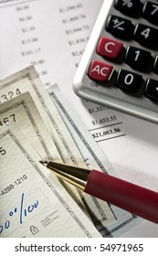
[[158, 223], [158, 193], [150, 189], [92, 170], [84, 192]]

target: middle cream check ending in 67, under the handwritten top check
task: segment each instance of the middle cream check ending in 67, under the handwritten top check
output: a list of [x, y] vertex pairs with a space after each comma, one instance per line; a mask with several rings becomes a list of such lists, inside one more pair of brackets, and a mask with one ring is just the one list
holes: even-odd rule
[[[0, 105], [0, 128], [10, 121], [16, 123], [41, 159], [62, 162], [57, 147], [47, 131], [47, 126], [37, 111], [37, 106], [28, 91]], [[46, 175], [48, 175], [48, 172]], [[77, 189], [71, 189], [69, 193], [80, 208], [85, 211]]]

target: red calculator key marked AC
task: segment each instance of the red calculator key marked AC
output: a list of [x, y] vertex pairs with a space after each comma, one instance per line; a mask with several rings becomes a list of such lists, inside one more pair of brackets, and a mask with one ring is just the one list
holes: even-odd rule
[[110, 64], [99, 60], [92, 60], [90, 63], [89, 76], [92, 80], [110, 80], [113, 67]]

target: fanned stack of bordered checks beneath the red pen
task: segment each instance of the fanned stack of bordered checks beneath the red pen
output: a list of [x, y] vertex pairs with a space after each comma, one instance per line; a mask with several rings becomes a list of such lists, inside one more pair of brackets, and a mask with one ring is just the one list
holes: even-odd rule
[[0, 81], [0, 103], [0, 237], [100, 237], [133, 219], [39, 163], [113, 172], [57, 85], [46, 91], [30, 66]]

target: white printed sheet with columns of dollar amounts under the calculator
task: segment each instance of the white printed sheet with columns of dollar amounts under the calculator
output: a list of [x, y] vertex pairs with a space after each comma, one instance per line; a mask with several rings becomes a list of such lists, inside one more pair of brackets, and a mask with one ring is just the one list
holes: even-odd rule
[[[72, 89], [73, 76], [102, 2], [0, 1], [0, 78], [35, 65], [46, 88], [58, 83], [118, 176], [157, 191], [157, 125], [81, 100]], [[12, 96], [12, 91], [2, 96], [1, 102]], [[146, 225], [149, 227], [150, 222], [142, 223]], [[145, 228], [139, 229], [140, 236], [144, 235], [142, 230]], [[156, 225], [148, 236], [158, 236]]]

